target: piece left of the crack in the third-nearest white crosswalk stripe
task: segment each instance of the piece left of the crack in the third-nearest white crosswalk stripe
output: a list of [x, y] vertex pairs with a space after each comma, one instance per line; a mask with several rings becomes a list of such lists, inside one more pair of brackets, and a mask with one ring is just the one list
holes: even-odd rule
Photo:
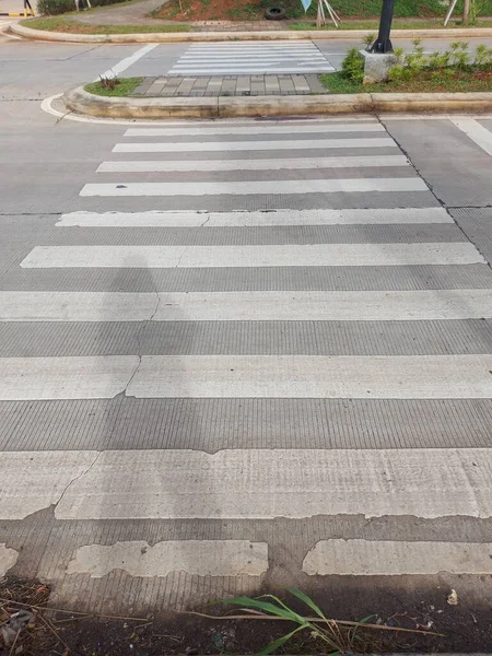
[[137, 355], [3, 358], [0, 400], [109, 399], [125, 391]]

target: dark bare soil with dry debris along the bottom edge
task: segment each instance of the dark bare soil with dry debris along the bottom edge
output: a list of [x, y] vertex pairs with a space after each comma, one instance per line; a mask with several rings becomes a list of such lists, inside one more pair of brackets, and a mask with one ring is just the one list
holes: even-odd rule
[[[388, 577], [390, 578], [390, 577]], [[447, 586], [432, 591], [394, 584], [367, 582], [361, 586], [333, 579], [313, 595], [327, 614], [359, 621], [373, 614], [370, 622], [388, 629], [340, 626], [347, 654], [370, 653], [491, 653], [492, 612], [490, 605], [459, 598], [447, 604]], [[490, 589], [492, 577], [480, 577], [479, 586]], [[49, 587], [39, 582], [8, 578], [0, 582], [0, 624], [13, 612], [28, 608], [34, 613], [12, 652], [0, 637], [0, 656], [166, 656], [174, 654], [251, 654], [263, 648], [294, 626], [284, 621], [229, 620], [230, 607], [202, 609], [221, 616], [216, 620], [188, 613], [159, 617], [95, 618], [73, 611], [49, 609]], [[298, 605], [296, 610], [304, 612]], [[408, 628], [419, 633], [393, 631]], [[425, 634], [425, 631], [442, 635]], [[308, 633], [298, 633], [279, 654], [327, 654], [330, 649]]]

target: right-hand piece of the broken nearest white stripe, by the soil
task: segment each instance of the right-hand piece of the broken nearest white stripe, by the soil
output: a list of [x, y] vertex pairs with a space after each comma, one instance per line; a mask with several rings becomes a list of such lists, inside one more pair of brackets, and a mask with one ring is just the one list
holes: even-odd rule
[[492, 544], [478, 542], [407, 542], [320, 540], [303, 562], [306, 574], [394, 576], [492, 574]]

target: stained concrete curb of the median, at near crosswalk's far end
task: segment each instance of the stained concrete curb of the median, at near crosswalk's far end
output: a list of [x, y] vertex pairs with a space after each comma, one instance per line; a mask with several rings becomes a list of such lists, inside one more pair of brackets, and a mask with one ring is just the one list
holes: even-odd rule
[[492, 93], [361, 93], [351, 95], [116, 98], [82, 86], [62, 97], [71, 112], [98, 118], [232, 118], [383, 112], [487, 112]]

